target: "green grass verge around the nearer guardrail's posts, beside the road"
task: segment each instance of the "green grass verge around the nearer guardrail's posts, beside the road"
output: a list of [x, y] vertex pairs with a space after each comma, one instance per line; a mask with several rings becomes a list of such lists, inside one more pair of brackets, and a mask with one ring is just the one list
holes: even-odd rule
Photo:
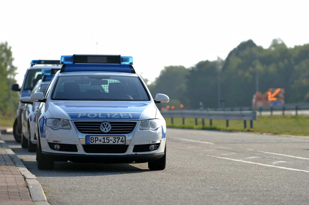
[[202, 119], [197, 119], [197, 125], [194, 118], [186, 118], [184, 125], [182, 118], [174, 118], [174, 124], [171, 124], [171, 118], [165, 118], [165, 120], [167, 127], [175, 128], [309, 135], [309, 116], [307, 115], [258, 116], [258, 120], [253, 121], [252, 129], [250, 129], [250, 121], [247, 121], [247, 128], [244, 129], [243, 120], [229, 120], [229, 127], [226, 127], [226, 120], [212, 120], [211, 127], [207, 126], [210, 124], [209, 119], [204, 120], [204, 126], [202, 126]]

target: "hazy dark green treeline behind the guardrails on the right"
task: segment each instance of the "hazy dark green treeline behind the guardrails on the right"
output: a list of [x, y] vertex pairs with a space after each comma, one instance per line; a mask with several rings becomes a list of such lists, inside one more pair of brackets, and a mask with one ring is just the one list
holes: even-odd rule
[[[288, 48], [280, 39], [273, 39], [269, 48], [252, 40], [241, 42], [225, 60], [200, 61], [195, 66], [165, 66], [159, 77], [149, 84], [152, 96], [164, 93], [170, 106], [179, 109], [218, 107], [218, 70], [221, 70], [221, 107], [252, 105], [256, 91], [256, 69], [259, 91], [284, 88], [285, 102], [309, 102], [309, 44]], [[146, 80], [147, 81], [147, 80]], [[161, 105], [158, 104], [158, 107]], [[166, 107], [166, 105], [162, 105]]]

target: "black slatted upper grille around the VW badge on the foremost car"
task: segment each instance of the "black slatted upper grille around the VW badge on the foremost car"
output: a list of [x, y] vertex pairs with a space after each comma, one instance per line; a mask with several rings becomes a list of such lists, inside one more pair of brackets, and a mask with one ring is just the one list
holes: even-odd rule
[[[102, 121], [105, 122], [105, 121]], [[102, 132], [100, 130], [100, 121], [83, 121], [74, 122], [77, 130], [84, 134], [129, 134], [134, 130], [136, 122], [108, 122], [111, 124], [112, 129], [109, 132]]]

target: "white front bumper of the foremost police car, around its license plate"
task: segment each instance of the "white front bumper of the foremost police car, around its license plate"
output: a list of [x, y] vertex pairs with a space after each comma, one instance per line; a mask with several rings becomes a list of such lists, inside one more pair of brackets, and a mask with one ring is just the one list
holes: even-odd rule
[[[84, 149], [85, 138], [88, 134], [82, 134], [74, 129], [73, 123], [70, 122], [71, 129], [53, 130], [44, 126], [44, 135], [40, 133], [40, 144], [42, 154], [53, 161], [73, 161], [73, 162], [97, 162], [97, 163], [129, 163], [133, 161], [149, 161], [160, 159], [164, 155], [166, 138], [162, 138], [163, 127], [155, 131], [139, 130], [137, 123], [132, 133], [126, 134], [125, 145], [128, 147], [124, 152], [114, 153], [89, 153]], [[164, 131], [165, 132], [165, 131]], [[42, 137], [44, 136], [44, 137]], [[112, 136], [112, 135], [102, 135]], [[159, 141], [159, 142], [158, 142]], [[75, 151], [57, 151], [50, 147], [50, 143], [59, 143], [73, 146]], [[135, 145], [150, 145], [160, 143], [155, 151], [133, 151]], [[112, 145], [111, 145], [112, 146]]]

